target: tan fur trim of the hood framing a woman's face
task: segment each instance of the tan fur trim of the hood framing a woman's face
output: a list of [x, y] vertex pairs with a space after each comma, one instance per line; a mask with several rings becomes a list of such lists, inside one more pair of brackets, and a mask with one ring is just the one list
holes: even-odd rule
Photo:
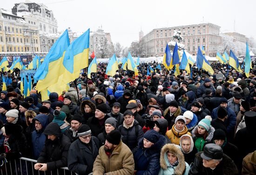
[[161, 156], [160, 156], [160, 166], [162, 169], [168, 169], [170, 165], [167, 157], [167, 152], [171, 152], [177, 156], [179, 164], [174, 169], [174, 175], [183, 175], [186, 170], [186, 162], [182, 154], [181, 148], [179, 145], [175, 144], [166, 144], [162, 147]]

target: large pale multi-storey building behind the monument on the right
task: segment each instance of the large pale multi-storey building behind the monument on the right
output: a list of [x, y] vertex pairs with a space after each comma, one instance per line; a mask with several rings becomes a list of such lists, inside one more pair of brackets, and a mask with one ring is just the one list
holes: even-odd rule
[[204, 48], [207, 56], [215, 57], [222, 44], [220, 26], [211, 23], [158, 28], [143, 37], [146, 56], [163, 56], [166, 44], [172, 41], [175, 30], [181, 31], [182, 44], [191, 55], [196, 55], [197, 47], [200, 46]]

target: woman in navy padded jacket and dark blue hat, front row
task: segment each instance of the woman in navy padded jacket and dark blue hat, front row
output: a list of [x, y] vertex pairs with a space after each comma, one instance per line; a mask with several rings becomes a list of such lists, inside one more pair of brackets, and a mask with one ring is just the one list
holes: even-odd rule
[[139, 141], [134, 155], [135, 175], [157, 175], [160, 171], [160, 152], [166, 138], [154, 130], [147, 131]]

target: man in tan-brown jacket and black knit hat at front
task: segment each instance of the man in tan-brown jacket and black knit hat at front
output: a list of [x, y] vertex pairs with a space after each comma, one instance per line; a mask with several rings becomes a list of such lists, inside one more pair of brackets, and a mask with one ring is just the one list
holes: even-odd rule
[[121, 133], [117, 130], [111, 131], [94, 161], [93, 175], [133, 175], [134, 168], [133, 154], [122, 143]]

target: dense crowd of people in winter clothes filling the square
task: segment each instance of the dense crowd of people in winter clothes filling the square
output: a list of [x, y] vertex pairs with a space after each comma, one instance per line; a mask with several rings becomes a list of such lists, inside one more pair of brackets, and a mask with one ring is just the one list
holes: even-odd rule
[[[20, 93], [20, 77], [3, 73], [0, 92], [0, 165], [27, 157], [33, 171], [61, 167], [79, 175], [256, 174], [256, 69], [247, 78], [213, 63], [214, 75], [161, 66], [147, 75], [107, 63], [86, 70], [62, 94], [41, 100], [36, 83]], [[121, 66], [121, 65], [119, 65]], [[20, 163], [20, 173], [31, 170]]]

